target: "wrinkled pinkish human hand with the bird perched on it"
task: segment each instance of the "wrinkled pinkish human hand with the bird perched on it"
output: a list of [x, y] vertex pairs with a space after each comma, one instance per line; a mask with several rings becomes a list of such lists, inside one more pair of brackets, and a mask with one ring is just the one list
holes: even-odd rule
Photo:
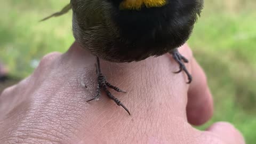
[[[234, 126], [218, 122], [194, 129], [213, 113], [206, 77], [187, 45], [186, 75], [170, 55], [131, 63], [101, 61], [108, 81], [128, 93], [113, 92], [129, 116], [97, 86], [95, 57], [74, 43], [65, 54], [46, 55], [35, 72], [0, 95], [0, 143], [230, 143], [243, 144]], [[115, 74], [115, 75], [114, 75]]]

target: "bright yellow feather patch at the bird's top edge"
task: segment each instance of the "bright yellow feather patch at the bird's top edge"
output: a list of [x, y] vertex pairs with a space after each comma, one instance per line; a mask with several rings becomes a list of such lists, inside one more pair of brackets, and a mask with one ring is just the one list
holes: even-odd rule
[[167, 3], [167, 0], [123, 0], [119, 9], [140, 10], [142, 5], [146, 7], [161, 7]]

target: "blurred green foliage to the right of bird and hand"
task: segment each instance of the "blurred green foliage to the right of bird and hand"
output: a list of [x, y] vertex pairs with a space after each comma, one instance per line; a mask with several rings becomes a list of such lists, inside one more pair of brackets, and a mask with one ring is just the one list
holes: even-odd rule
[[247, 143], [256, 141], [255, 6], [253, 1], [206, 1], [189, 39], [214, 97], [214, 116], [200, 129], [228, 121]]

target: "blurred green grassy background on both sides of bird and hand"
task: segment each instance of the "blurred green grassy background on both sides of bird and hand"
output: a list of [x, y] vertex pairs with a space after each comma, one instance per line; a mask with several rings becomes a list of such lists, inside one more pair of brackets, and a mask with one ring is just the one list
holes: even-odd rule
[[[1, 93], [4, 87], [31, 74], [46, 53], [65, 52], [74, 38], [71, 11], [38, 22], [69, 0], [0, 3], [0, 65], [4, 63], [9, 71], [6, 81], [0, 83]], [[256, 141], [255, 7], [254, 0], [205, 0], [205, 9], [188, 41], [214, 96], [214, 116], [199, 129], [215, 121], [228, 121], [251, 144]]]

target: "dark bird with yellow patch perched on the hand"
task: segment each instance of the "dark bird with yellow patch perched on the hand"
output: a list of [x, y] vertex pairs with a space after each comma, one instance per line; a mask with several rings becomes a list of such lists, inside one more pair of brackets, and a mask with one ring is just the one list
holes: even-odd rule
[[105, 91], [107, 97], [130, 111], [110, 93], [125, 91], [111, 85], [101, 72], [100, 59], [110, 62], [141, 61], [170, 53], [179, 70], [192, 81], [178, 48], [189, 39], [203, 9], [203, 0], [70, 0], [60, 12], [43, 19], [73, 11], [75, 40], [96, 58], [97, 91], [92, 101]]

